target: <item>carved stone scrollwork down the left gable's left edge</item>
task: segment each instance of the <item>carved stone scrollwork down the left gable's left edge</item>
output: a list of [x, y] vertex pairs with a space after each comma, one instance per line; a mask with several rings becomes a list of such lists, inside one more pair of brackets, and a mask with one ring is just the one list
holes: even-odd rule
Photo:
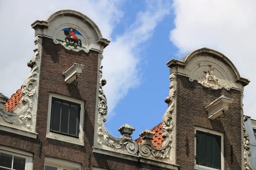
[[36, 62], [39, 50], [38, 50], [39, 37], [35, 38], [35, 49], [33, 59], [28, 62], [28, 67], [31, 67], [31, 72], [26, 78], [24, 85], [21, 87], [22, 98], [18, 105], [11, 111], [7, 112], [3, 104], [0, 104], [0, 115], [3, 120], [13, 125], [25, 126], [27, 129], [31, 129], [33, 105], [35, 102], [35, 86], [38, 77], [38, 64]]

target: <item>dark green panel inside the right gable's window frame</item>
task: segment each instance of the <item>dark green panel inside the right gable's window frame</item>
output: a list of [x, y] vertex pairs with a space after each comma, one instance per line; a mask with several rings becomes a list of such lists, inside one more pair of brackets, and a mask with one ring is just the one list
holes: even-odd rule
[[221, 136], [197, 131], [197, 165], [221, 168]]

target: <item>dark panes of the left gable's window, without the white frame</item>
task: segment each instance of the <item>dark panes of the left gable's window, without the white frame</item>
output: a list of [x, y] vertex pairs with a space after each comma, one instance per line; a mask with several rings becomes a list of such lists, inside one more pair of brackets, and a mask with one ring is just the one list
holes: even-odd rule
[[52, 98], [51, 132], [79, 137], [80, 104]]

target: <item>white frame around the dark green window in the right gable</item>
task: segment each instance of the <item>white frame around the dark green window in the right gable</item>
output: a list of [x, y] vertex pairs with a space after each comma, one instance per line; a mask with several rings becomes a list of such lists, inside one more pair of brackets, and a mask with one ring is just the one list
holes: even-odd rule
[[[204, 128], [200, 128], [200, 127], [195, 127], [195, 134], [197, 134], [197, 131], [201, 131], [201, 132], [206, 132], [209, 134], [213, 134], [213, 135], [217, 135], [220, 136], [220, 142], [221, 142], [221, 152], [220, 152], [220, 161], [221, 161], [221, 169], [220, 170], [224, 170], [224, 135], [220, 132], [216, 132], [210, 129], [204, 129]], [[195, 137], [195, 156], [197, 155], [197, 138]], [[210, 167], [205, 167], [202, 165], [197, 165], [197, 160], [195, 159], [195, 170], [218, 170], [215, 168], [210, 168]]]

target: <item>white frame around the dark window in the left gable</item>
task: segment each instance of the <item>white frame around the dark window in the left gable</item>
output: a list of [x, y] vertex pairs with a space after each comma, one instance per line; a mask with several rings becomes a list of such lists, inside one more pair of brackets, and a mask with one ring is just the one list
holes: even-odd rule
[[[58, 99], [62, 99], [65, 101], [69, 101], [69, 102], [75, 102], [80, 104], [80, 120], [79, 120], [79, 138], [76, 137], [72, 137], [72, 136], [66, 136], [66, 135], [61, 135], [58, 133], [54, 133], [54, 132], [50, 132], [50, 124], [51, 124], [51, 110], [52, 110], [52, 98], [58, 98]], [[75, 99], [75, 98], [71, 98], [71, 97], [67, 97], [67, 96], [62, 96], [59, 94], [54, 94], [54, 93], [50, 93], [49, 94], [49, 100], [48, 100], [48, 116], [47, 116], [47, 132], [46, 132], [46, 137], [47, 138], [51, 138], [51, 139], [56, 139], [56, 140], [60, 140], [60, 141], [64, 141], [64, 142], [68, 142], [68, 143], [73, 143], [73, 144], [77, 144], [77, 145], [81, 145], [84, 146], [84, 141], [83, 141], [83, 119], [84, 119], [84, 101]]]

